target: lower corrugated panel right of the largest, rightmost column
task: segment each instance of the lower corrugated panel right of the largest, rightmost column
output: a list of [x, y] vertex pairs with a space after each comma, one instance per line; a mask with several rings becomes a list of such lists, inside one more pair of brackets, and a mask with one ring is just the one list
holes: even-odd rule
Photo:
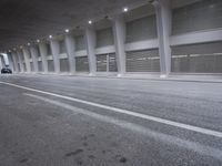
[[222, 73], [222, 42], [172, 48], [171, 71]]

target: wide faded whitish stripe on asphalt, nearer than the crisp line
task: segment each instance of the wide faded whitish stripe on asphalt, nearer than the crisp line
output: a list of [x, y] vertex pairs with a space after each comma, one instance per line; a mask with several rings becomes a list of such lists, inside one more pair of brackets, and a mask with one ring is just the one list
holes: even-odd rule
[[57, 105], [57, 106], [60, 106], [60, 107], [63, 107], [63, 108], [67, 108], [69, 111], [72, 111], [72, 113], [74, 115], [77, 115], [77, 114], [87, 115], [87, 116], [92, 117], [97, 121], [113, 124], [113, 125], [119, 126], [121, 128], [140, 133], [142, 135], [148, 136], [148, 137], [154, 138], [154, 141], [160, 141], [160, 142], [165, 143], [165, 144], [175, 145], [178, 147], [182, 147], [182, 148], [185, 148], [185, 149], [193, 151], [193, 152], [195, 152], [200, 155], [211, 156], [211, 157], [214, 157], [219, 160], [222, 160], [222, 151], [221, 149], [210, 147], [210, 146], [205, 146], [205, 145], [201, 145], [199, 143], [194, 143], [194, 142], [191, 142], [191, 141], [178, 138], [175, 136], [171, 136], [171, 135], [168, 135], [168, 134], [154, 132], [152, 129], [145, 128], [145, 127], [138, 125], [138, 124], [127, 122], [124, 120], [118, 120], [118, 118], [110, 117], [110, 116], [107, 116], [107, 115], [101, 115], [101, 114], [98, 114], [98, 113], [85, 111], [85, 110], [82, 110], [82, 108], [65, 104], [65, 103], [61, 103], [59, 101], [49, 100], [47, 97], [42, 97], [42, 96], [39, 96], [39, 95], [29, 94], [29, 93], [23, 93], [23, 94], [27, 95], [27, 96], [30, 96], [30, 97], [33, 97], [33, 98]]

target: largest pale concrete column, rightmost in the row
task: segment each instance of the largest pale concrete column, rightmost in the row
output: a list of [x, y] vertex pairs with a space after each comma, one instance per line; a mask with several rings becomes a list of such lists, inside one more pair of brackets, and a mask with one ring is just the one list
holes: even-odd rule
[[172, 29], [172, 10], [170, 0], [154, 0], [159, 38], [161, 77], [167, 77], [171, 72], [170, 35]]

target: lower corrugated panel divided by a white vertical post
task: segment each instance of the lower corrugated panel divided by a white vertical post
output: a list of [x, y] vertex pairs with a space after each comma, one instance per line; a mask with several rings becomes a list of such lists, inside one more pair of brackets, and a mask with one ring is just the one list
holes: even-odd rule
[[98, 72], [117, 72], [115, 54], [100, 54], [97, 55], [97, 71]]

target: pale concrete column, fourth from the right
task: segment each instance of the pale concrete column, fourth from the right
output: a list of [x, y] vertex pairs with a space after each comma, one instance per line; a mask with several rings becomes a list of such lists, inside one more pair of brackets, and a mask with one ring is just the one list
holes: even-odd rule
[[64, 38], [65, 46], [67, 46], [67, 54], [69, 60], [70, 73], [75, 73], [75, 48], [74, 48], [74, 39], [71, 34], [67, 34]]

